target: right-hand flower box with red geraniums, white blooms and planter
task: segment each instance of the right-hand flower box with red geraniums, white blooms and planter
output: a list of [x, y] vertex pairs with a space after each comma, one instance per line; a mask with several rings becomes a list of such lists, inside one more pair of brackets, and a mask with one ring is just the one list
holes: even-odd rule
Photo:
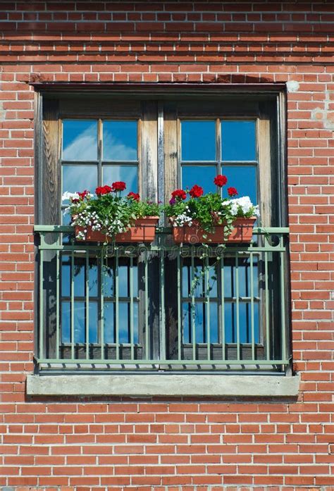
[[[217, 175], [214, 183], [223, 187], [227, 178]], [[250, 242], [259, 209], [248, 196], [237, 198], [237, 194], [235, 187], [228, 187], [226, 198], [217, 192], [204, 194], [198, 185], [190, 190], [175, 189], [164, 207], [173, 226], [174, 241], [178, 244]]]

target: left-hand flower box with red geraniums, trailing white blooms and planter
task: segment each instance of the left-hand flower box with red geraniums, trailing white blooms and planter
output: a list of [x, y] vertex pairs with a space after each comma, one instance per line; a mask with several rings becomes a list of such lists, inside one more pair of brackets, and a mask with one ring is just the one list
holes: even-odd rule
[[69, 199], [66, 210], [71, 216], [77, 240], [92, 242], [152, 242], [159, 220], [159, 204], [142, 201], [140, 195], [120, 193], [125, 182], [113, 182], [95, 189], [95, 194], [85, 191], [64, 193]]

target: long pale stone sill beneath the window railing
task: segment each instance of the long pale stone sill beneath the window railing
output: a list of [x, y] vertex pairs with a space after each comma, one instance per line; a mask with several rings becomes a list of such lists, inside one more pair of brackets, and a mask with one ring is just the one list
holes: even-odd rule
[[27, 375], [29, 396], [297, 397], [298, 390], [298, 375]]

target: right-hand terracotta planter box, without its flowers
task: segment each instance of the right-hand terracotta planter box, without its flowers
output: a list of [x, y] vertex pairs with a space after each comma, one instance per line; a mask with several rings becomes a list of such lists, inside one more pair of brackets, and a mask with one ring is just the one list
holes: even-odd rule
[[[211, 234], [204, 232], [199, 225], [173, 227], [173, 239], [176, 244], [189, 242], [190, 244], [223, 244], [230, 242], [251, 242], [253, 226], [256, 218], [237, 218], [233, 223], [233, 230], [227, 240], [224, 239], [224, 225], [216, 225]], [[171, 220], [173, 221], [173, 220]], [[203, 237], [206, 235], [206, 237]]]

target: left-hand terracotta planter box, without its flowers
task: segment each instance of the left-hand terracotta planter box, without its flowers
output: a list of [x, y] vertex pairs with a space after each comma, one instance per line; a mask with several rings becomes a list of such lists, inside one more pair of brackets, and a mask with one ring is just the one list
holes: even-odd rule
[[[153, 242], [156, 235], [156, 225], [158, 224], [159, 216], [147, 216], [135, 220], [132, 227], [126, 232], [116, 234], [115, 242]], [[84, 228], [75, 227], [75, 235], [82, 232]], [[92, 230], [92, 227], [87, 227], [85, 241], [86, 242], [113, 242], [113, 237], [109, 237], [102, 232]]]

